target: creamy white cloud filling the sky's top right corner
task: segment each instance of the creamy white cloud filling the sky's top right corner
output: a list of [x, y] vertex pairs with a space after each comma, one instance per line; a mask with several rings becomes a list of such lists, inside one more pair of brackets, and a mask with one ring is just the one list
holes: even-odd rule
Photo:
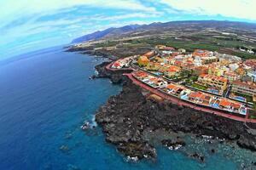
[[220, 14], [226, 17], [256, 20], [255, 0], [161, 0], [160, 2], [189, 14]]

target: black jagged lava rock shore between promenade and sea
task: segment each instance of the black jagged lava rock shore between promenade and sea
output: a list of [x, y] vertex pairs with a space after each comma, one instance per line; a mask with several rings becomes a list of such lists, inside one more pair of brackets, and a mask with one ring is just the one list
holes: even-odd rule
[[[137, 159], [156, 157], [154, 144], [148, 139], [148, 135], [156, 133], [153, 138], [159, 138], [159, 132], [207, 135], [256, 150], [253, 124], [172, 104], [137, 87], [122, 72], [106, 71], [104, 65], [108, 63], [96, 66], [99, 75], [109, 77], [113, 82], [123, 82], [123, 90], [119, 95], [108, 99], [106, 105], [97, 111], [96, 122], [102, 125], [106, 140], [115, 144], [125, 156]], [[178, 135], [175, 139], [161, 139], [161, 143], [166, 146], [184, 145], [183, 139]]]

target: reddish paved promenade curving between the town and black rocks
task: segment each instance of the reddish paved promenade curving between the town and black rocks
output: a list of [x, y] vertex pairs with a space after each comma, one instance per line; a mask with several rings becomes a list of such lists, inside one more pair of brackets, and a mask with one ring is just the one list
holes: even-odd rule
[[[110, 63], [109, 65], [107, 65], [106, 69], [108, 71], [119, 71], [119, 70], [137, 71], [136, 69], [131, 68], [131, 67], [130, 68], [122, 68], [122, 69], [113, 69], [113, 68], [111, 68], [112, 65], [113, 65], [113, 62]], [[148, 90], [149, 92], [151, 92], [152, 94], [156, 94], [156, 95], [160, 96], [163, 99], [167, 99], [167, 100], [171, 101], [172, 103], [174, 103], [176, 105], [187, 106], [187, 107], [190, 107], [190, 108], [195, 109], [197, 111], [204, 111], [204, 112], [207, 112], [207, 113], [210, 113], [210, 114], [215, 114], [215, 115], [218, 115], [218, 116], [224, 116], [226, 118], [229, 118], [229, 119], [232, 119], [232, 120], [235, 120], [235, 121], [239, 121], [239, 122], [253, 122], [253, 123], [256, 123], [255, 119], [249, 119], [248, 118], [248, 111], [247, 111], [247, 115], [243, 118], [243, 117], [240, 117], [240, 116], [230, 115], [228, 113], [225, 113], [224, 111], [217, 111], [217, 110], [213, 110], [211, 108], [201, 107], [199, 105], [193, 105], [189, 102], [183, 101], [182, 99], [178, 99], [174, 96], [165, 94], [165, 93], [161, 92], [158, 89], [149, 87], [148, 85], [144, 84], [143, 82], [138, 81], [135, 77], [132, 76], [131, 73], [124, 73], [123, 75], [129, 77], [133, 83], [137, 84], [137, 86], [140, 86], [141, 88], [144, 88], [144, 89]]]

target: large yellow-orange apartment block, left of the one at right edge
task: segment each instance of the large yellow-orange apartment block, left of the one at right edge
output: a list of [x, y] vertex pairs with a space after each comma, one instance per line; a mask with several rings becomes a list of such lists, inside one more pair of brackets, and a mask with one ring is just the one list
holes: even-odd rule
[[224, 91], [227, 88], [228, 80], [224, 77], [201, 74], [197, 79], [197, 83], [203, 86], [218, 88]]

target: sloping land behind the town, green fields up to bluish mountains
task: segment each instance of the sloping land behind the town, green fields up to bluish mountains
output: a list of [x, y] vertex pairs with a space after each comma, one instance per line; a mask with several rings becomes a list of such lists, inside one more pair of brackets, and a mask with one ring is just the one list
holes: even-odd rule
[[217, 20], [156, 22], [96, 31], [74, 39], [73, 43], [78, 44], [72, 45], [68, 51], [87, 51], [117, 58], [143, 54], [155, 45], [164, 44], [185, 48], [188, 52], [202, 48], [255, 59], [256, 24]]

